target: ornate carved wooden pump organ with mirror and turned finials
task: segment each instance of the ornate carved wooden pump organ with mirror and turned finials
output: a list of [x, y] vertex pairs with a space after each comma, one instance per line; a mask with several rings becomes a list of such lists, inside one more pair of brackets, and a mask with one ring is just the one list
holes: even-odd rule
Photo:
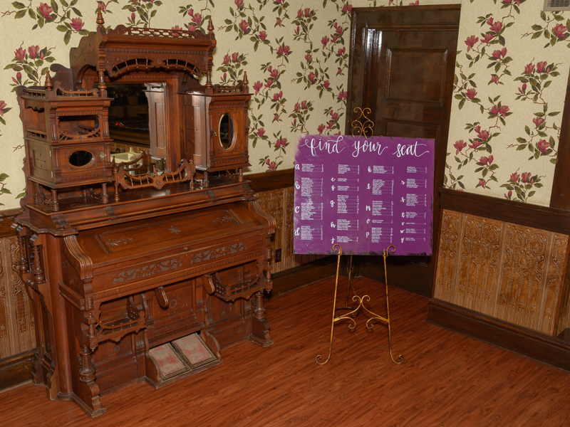
[[[100, 12], [97, 23], [71, 68], [18, 89], [26, 197], [15, 224], [36, 384], [92, 417], [105, 413], [101, 394], [130, 381], [163, 386], [240, 339], [272, 344], [263, 292], [275, 228], [242, 175], [247, 77], [212, 84], [212, 22], [206, 34], [105, 31]], [[192, 334], [212, 358], [163, 374], [153, 350]]]

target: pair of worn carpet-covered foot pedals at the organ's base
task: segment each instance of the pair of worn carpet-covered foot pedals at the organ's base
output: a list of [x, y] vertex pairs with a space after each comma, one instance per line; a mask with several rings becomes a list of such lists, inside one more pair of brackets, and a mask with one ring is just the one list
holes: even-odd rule
[[149, 354], [163, 380], [175, 379], [199, 368], [202, 371], [221, 362], [197, 333], [152, 348]]

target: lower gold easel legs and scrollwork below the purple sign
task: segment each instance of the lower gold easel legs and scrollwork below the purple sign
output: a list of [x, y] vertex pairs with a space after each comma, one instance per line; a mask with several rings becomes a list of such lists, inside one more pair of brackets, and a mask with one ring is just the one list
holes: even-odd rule
[[[373, 325], [374, 320], [380, 320], [382, 322], [385, 322], [386, 325], [388, 325], [388, 347], [390, 349], [390, 359], [392, 359], [392, 362], [394, 362], [395, 364], [401, 364], [404, 362], [404, 357], [402, 354], [400, 354], [398, 356], [398, 360], [394, 359], [394, 356], [392, 354], [392, 330], [390, 328], [390, 307], [388, 305], [388, 273], [386, 270], [386, 258], [388, 258], [388, 252], [394, 253], [395, 250], [396, 250], [395, 246], [390, 245], [390, 246], [388, 246], [388, 248], [386, 248], [383, 251], [384, 282], [385, 282], [385, 289], [386, 289], [386, 317], [382, 317], [380, 315], [377, 315], [375, 312], [368, 310], [366, 305], [364, 305], [365, 302], [370, 301], [370, 297], [368, 295], [363, 295], [362, 297], [360, 297], [358, 295], [354, 295], [352, 297], [352, 300], [354, 302], [358, 302], [358, 305], [356, 306], [356, 308], [351, 309], [351, 311], [349, 311], [343, 315], [339, 315], [336, 312], [336, 310], [338, 310], [336, 308], [336, 293], [338, 290], [338, 270], [339, 270], [340, 265], [341, 265], [341, 255], [343, 254], [343, 248], [338, 243], [335, 243], [333, 245], [333, 251], [338, 252], [338, 261], [336, 264], [336, 281], [334, 284], [333, 317], [332, 317], [332, 321], [331, 321], [331, 342], [329, 342], [329, 344], [328, 344], [328, 357], [326, 358], [326, 360], [324, 362], [319, 362], [321, 359], [323, 359], [323, 357], [321, 357], [321, 355], [318, 354], [317, 357], [315, 357], [315, 362], [317, 364], [319, 364], [319, 365], [326, 364], [326, 362], [328, 362], [328, 360], [331, 359], [331, 354], [333, 352], [333, 332], [334, 332], [335, 322], [339, 322], [341, 320], [349, 320], [351, 322], [351, 324], [348, 325], [348, 329], [353, 330], [356, 327], [356, 320], [354, 320], [353, 317], [355, 317], [354, 315], [356, 313], [358, 313], [358, 310], [360, 310], [361, 308], [365, 312], [368, 312], [368, 315], [371, 315], [371, 317], [369, 317], [368, 320], [366, 320], [366, 329], [368, 329], [369, 331], [371, 331], [372, 328], [374, 327], [374, 325]], [[350, 272], [349, 272], [349, 275], [350, 275]], [[350, 285], [351, 285], [351, 283], [349, 281], [348, 286], [350, 286]], [[348, 294], [348, 289], [346, 290], [346, 292]], [[344, 307], [339, 307], [339, 308], [344, 308]], [[348, 307], [348, 308], [351, 308], [351, 307]]]

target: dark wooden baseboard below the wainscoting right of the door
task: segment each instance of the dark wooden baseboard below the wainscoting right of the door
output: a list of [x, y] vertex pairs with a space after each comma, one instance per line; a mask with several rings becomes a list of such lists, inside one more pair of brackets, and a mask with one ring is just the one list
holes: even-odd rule
[[561, 339], [435, 299], [429, 302], [426, 322], [570, 371], [570, 343]]

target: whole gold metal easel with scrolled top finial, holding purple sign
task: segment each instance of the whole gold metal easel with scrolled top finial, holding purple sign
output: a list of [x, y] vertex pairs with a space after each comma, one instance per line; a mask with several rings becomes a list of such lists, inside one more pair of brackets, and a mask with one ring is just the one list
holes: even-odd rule
[[[358, 118], [356, 120], [353, 120], [352, 122], [353, 137], [356, 136], [371, 137], [373, 135], [374, 122], [370, 120], [368, 117], [366, 117], [366, 115], [371, 113], [371, 109], [365, 108], [364, 110], [362, 110], [360, 107], [356, 107], [354, 109], [354, 112], [360, 112], [360, 116], [358, 116]], [[352, 286], [352, 280], [351, 280], [352, 255], [348, 265], [348, 285], [346, 286], [346, 303], [344, 307], [336, 307], [336, 292], [338, 290], [338, 269], [340, 268], [341, 265], [341, 255], [343, 254], [343, 248], [338, 243], [335, 243], [333, 245], [333, 251], [338, 252], [338, 262], [336, 264], [336, 282], [334, 285], [333, 318], [331, 321], [331, 342], [328, 344], [328, 357], [324, 362], [319, 362], [322, 359], [321, 355], [319, 354], [317, 357], [315, 357], [315, 362], [317, 364], [320, 365], [326, 364], [326, 362], [328, 362], [328, 360], [331, 359], [331, 353], [333, 352], [333, 331], [334, 331], [335, 322], [341, 320], [349, 320], [351, 324], [348, 325], [348, 329], [353, 330], [356, 327], [356, 320], [354, 320], [354, 317], [358, 315], [358, 311], [361, 308], [365, 312], [368, 312], [369, 315], [371, 315], [371, 317], [369, 317], [368, 320], [366, 320], [366, 329], [368, 329], [369, 331], [371, 331], [372, 328], [374, 327], [373, 325], [374, 320], [380, 320], [388, 325], [388, 347], [390, 348], [390, 359], [392, 359], [392, 362], [394, 362], [395, 364], [401, 364], [404, 362], [404, 357], [402, 354], [398, 356], [398, 361], [394, 359], [392, 354], [392, 331], [390, 330], [390, 308], [388, 306], [388, 273], [386, 270], [386, 258], [388, 257], [388, 251], [390, 251], [390, 248], [391, 252], [394, 253], [396, 248], [393, 245], [388, 246], [388, 248], [386, 248], [383, 253], [384, 283], [386, 287], [386, 317], [382, 317], [375, 314], [374, 312], [371, 312], [371, 310], [368, 310], [368, 308], [366, 308], [366, 305], [364, 305], [364, 303], [370, 301], [370, 297], [368, 295], [363, 295], [362, 297], [359, 297], [358, 295], [356, 295], [354, 287], [353, 287], [353, 292], [355, 295], [352, 297], [352, 299], [354, 302], [358, 302], [358, 305], [356, 307], [348, 306], [348, 294]], [[350, 310], [350, 311], [346, 312], [343, 315], [339, 315], [337, 314], [337, 310]]]

